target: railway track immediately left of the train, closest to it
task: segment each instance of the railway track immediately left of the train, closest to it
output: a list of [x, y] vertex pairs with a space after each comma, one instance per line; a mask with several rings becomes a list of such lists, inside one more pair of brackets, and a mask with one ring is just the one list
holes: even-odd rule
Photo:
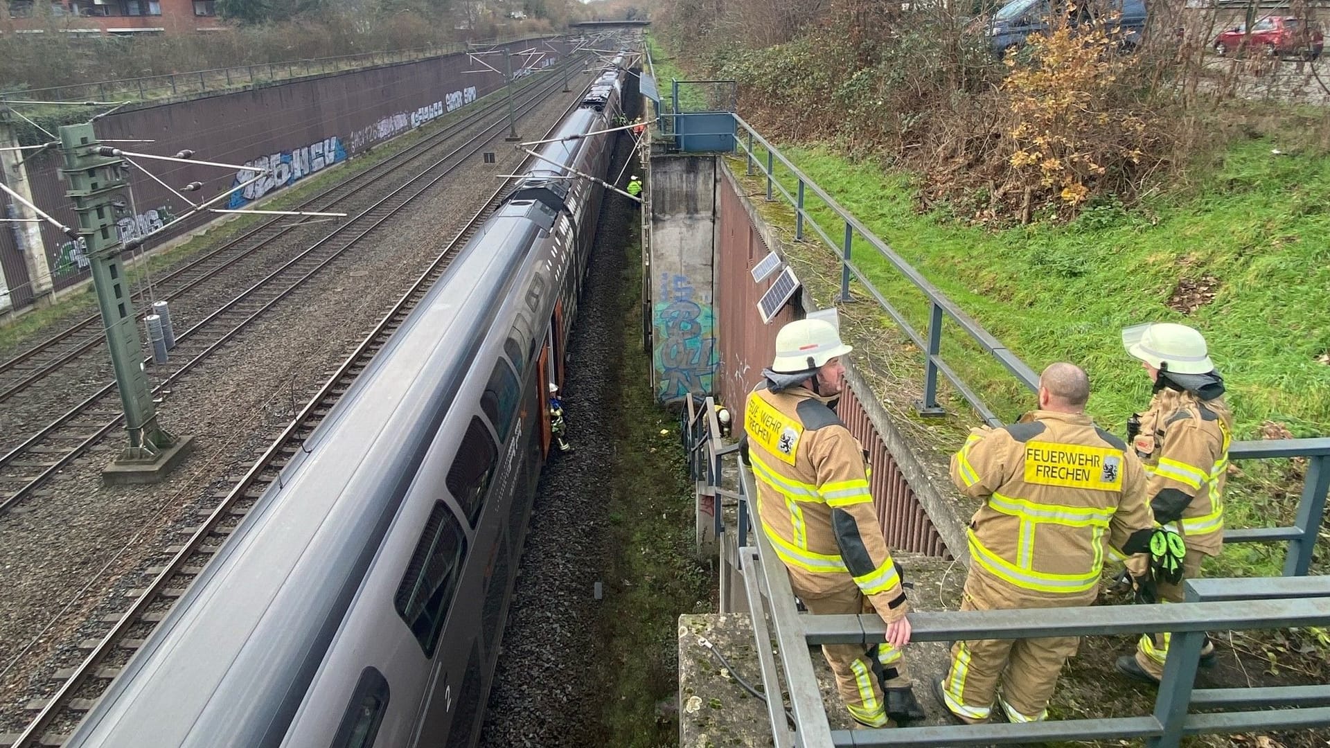
[[[573, 110], [580, 100], [580, 96], [575, 98], [564, 113]], [[551, 126], [548, 133], [552, 133], [556, 126], [557, 124]], [[532, 161], [532, 158], [524, 160], [517, 172], [528, 168]], [[153, 627], [165, 618], [172, 604], [202, 572], [211, 556], [221, 550], [222, 543], [241, 523], [254, 502], [278, 479], [282, 467], [303, 449], [305, 439], [314, 433], [338, 398], [364, 371], [374, 355], [402, 326], [416, 303], [447, 272], [458, 250], [466, 246], [484, 218], [497, 208], [508, 184], [504, 181], [493, 190], [484, 206], [472, 214], [428, 269], [412, 283], [411, 289], [347, 357], [301, 413], [277, 435], [253, 466], [242, 476], [234, 479], [230, 490], [217, 492], [219, 498], [217, 506], [201, 518], [177, 546], [164, 551], [166, 558], [149, 568], [149, 574], [153, 575], [152, 582], [137, 591], [136, 599], [128, 610], [105, 616], [106, 634], [101, 639], [80, 644], [88, 651], [85, 659], [76, 668], [57, 673], [63, 677], [63, 683], [49, 699], [28, 704], [35, 716], [23, 732], [0, 736], [0, 748], [59, 747], [64, 744], [68, 733], [61, 731], [72, 731], [82, 715], [96, 704]]]

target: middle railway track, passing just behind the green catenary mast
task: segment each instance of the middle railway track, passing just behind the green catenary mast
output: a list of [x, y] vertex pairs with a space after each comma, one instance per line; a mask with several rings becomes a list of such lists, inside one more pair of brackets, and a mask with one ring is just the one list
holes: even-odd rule
[[[541, 84], [537, 94], [517, 108], [517, 114], [535, 109], [552, 94], [560, 81]], [[229, 302], [176, 335], [173, 362], [153, 367], [160, 397], [188, 371], [207, 361], [251, 322], [263, 317], [282, 299], [342, 257], [355, 242], [382, 226], [416, 197], [466, 164], [507, 125], [495, 117], [480, 134], [469, 138], [430, 164], [423, 172], [394, 189], [378, 202], [348, 218], [322, 240], [297, 253], [286, 264], [250, 285]], [[98, 331], [100, 334], [100, 331]], [[0, 457], [0, 512], [33, 495], [52, 475], [69, 465], [122, 421], [116, 382], [106, 382], [82, 402], [29, 435]]]

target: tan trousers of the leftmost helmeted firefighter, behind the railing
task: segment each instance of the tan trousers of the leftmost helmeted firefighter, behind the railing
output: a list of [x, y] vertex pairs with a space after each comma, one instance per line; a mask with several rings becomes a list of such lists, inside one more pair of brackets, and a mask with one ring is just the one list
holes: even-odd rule
[[[794, 594], [803, 600], [803, 607], [814, 615], [834, 614], [876, 614], [854, 580], [843, 575], [845, 584], [826, 587], [833, 575], [797, 572], [791, 570], [790, 584]], [[835, 575], [839, 580], [842, 575]], [[817, 579], [809, 579], [817, 578]], [[904, 659], [900, 650], [890, 644], [823, 644], [822, 655], [835, 673], [837, 691], [850, 716], [866, 725], [884, 727], [888, 724], [883, 688], [904, 688], [910, 685]]]

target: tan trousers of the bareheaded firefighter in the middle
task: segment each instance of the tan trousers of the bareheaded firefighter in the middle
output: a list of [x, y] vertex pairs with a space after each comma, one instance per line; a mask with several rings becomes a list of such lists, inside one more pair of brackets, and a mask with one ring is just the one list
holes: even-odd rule
[[[1075, 596], [1068, 606], [1088, 604]], [[1005, 590], [991, 588], [974, 575], [966, 580], [960, 602], [963, 611], [1051, 607], [1048, 598], [1021, 600]], [[1033, 616], [1032, 616], [1033, 618]], [[1048, 700], [1057, 687], [1063, 663], [1076, 654], [1080, 639], [1045, 636], [1041, 639], [983, 639], [956, 642], [951, 647], [951, 668], [942, 684], [947, 708], [966, 721], [984, 721], [992, 713], [998, 680], [1001, 695], [998, 703], [1013, 723], [1039, 721], [1048, 713]], [[1005, 672], [1003, 672], [1005, 669]]]

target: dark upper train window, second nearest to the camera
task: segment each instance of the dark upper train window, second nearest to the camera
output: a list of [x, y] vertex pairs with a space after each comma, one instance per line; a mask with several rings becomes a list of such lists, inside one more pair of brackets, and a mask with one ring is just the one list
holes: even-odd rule
[[467, 536], [462, 524], [448, 504], [435, 502], [392, 599], [398, 615], [415, 634], [427, 657], [434, 656], [443, 622], [448, 619], [466, 554]]

